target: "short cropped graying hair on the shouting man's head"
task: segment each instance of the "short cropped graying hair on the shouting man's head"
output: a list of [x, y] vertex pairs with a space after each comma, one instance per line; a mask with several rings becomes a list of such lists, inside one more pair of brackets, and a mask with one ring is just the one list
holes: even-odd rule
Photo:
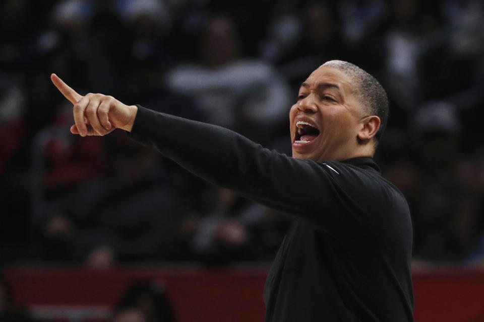
[[375, 135], [377, 141], [380, 140], [388, 120], [388, 97], [381, 84], [368, 72], [347, 61], [330, 60], [322, 66], [340, 69], [352, 78], [356, 85], [354, 94], [361, 100], [365, 111], [380, 118], [380, 128]]

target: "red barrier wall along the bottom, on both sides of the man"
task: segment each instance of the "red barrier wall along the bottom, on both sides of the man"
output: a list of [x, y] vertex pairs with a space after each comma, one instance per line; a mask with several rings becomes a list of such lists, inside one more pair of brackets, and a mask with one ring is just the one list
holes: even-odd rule
[[[5, 272], [18, 304], [103, 306], [138, 280], [163, 283], [179, 322], [263, 321], [267, 269], [17, 267]], [[484, 322], [484, 270], [414, 272], [416, 322]]]

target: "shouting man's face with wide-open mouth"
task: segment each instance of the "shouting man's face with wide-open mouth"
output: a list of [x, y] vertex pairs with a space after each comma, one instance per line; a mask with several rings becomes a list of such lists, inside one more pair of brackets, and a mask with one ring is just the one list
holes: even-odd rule
[[365, 115], [343, 71], [321, 66], [302, 83], [289, 112], [292, 156], [315, 161], [352, 156]]

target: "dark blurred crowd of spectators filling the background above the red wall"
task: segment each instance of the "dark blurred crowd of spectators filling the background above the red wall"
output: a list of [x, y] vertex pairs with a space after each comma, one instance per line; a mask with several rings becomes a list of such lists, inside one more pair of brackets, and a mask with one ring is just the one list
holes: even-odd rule
[[121, 130], [72, 135], [49, 75], [290, 155], [289, 108], [331, 59], [388, 92], [376, 158], [409, 202], [414, 259], [484, 259], [479, 0], [4, 0], [0, 26], [1, 265], [272, 260], [290, 218]]

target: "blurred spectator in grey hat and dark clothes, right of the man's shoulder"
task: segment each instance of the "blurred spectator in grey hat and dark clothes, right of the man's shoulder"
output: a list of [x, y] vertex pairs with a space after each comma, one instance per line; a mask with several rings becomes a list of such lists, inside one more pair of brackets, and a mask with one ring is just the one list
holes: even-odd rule
[[461, 260], [482, 233], [481, 202], [459, 176], [461, 125], [445, 102], [422, 106], [415, 116], [417, 204], [412, 209], [415, 256]]

